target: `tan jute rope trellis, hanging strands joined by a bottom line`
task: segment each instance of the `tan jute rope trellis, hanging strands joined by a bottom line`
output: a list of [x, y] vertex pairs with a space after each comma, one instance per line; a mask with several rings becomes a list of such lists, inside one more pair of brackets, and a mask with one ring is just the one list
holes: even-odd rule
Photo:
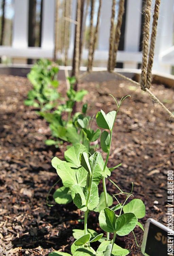
[[[80, 9], [81, 9], [81, 1], [77, 0], [77, 24], [76, 24], [76, 54], [75, 54], [75, 76], [78, 81], [84, 78], [92, 71], [93, 64], [93, 55], [95, 44], [97, 41], [97, 34], [100, 22], [100, 14], [101, 14], [101, 5], [102, 0], [99, 0], [99, 9], [98, 9], [98, 18], [97, 25], [95, 30], [93, 28], [93, 16], [94, 16], [94, 3], [95, 0], [90, 0], [91, 3], [91, 11], [90, 11], [90, 42], [89, 42], [89, 53], [88, 53], [88, 65], [87, 71], [79, 76], [79, 47], [80, 47]], [[157, 24], [159, 17], [159, 6], [160, 0], [155, 0], [155, 8], [153, 14], [153, 23], [152, 23], [152, 33], [150, 38], [150, 21], [151, 21], [151, 5], [152, 0], [146, 0], [145, 5], [145, 21], [144, 21], [144, 35], [143, 35], [143, 50], [142, 50], [142, 67], [141, 67], [141, 81], [140, 83], [133, 81], [132, 79], [125, 77], [122, 74], [117, 73], [114, 68], [116, 66], [116, 57], [117, 51], [120, 42], [121, 35], [121, 26], [122, 26], [122, 18], [124, 14], [124, 0], [119, 1], [119, 12], [118, 12], [118, 21], [117, 26], [115, 28], [114, 20], [115, 20], [115, 5], [116, 0], [112, 0], [112, 10], [111, 10], [111, 26], [110, 26], [110, 38], [109, 38], [109, 56], [108, 56], [108, 71], [112, 74], [122, 77], [125, 80], [128, 80], [136, 85], [141, 86], [141, 89], [147, 92], [150, 97], [157, 102], [163, 110], [165, 110], [170, 117], [174, 118], [173, 113], [171, 113], [163, 103], [149, 90], [152, 82], [152, 65], [154, 58], [154, 49], [155, 49], [155, 40], [157, 35]], [[101, 25], [102, 26], [102, 25]], [[150, 41], [150, 44], [149, 44]], [[101, 72], [101, 71], [98, 71]]]

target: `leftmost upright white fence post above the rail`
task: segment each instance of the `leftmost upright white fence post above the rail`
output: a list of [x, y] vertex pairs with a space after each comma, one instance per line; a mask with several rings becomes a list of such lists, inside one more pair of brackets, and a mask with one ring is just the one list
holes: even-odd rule
[[14, 1], [14, 23], [13, 23], [13, 39], [12, 47], [27, 48], [28, 47], [28, 0]]

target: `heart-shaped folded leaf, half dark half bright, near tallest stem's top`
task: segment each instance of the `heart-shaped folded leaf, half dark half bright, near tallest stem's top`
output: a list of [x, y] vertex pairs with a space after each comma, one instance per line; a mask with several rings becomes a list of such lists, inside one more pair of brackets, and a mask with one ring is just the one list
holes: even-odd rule
[[115, 122], [116, 111], [113, 110], [107, 114], [101, 109], [96, 115], [96, 121], [100, 128], [112, 130]]

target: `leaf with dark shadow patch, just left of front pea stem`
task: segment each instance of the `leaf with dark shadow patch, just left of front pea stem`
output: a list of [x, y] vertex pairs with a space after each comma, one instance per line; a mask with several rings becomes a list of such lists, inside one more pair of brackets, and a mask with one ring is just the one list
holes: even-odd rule
[[71, 196], [72, 196], [74, 204], [79, 209], [86, 211], [86, 209], [87, 209], [87, 207], [85, 207], [86, 198], [85, 198], [82, 188], [79, 185], [74, 185], [71, 187]]

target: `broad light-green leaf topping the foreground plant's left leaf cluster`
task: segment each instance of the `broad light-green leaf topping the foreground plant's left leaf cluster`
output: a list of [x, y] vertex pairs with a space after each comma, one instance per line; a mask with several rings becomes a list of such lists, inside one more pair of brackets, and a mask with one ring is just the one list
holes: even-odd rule
[[65, 151], [64, 157], [67, 162], [73, 163], [76, 167], [79, 167], [81, 165], [80, 154], [84, 151], [87, 151], [86, 147], [83, 144], [77, 143]]

